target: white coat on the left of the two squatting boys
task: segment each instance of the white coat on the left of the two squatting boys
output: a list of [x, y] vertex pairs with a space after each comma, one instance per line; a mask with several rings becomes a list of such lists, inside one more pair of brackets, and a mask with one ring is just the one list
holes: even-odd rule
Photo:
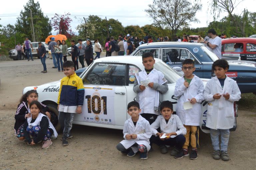
[[[149, 138], [152, 136], [152, 131], [149, 122], [143, 118], [141, 115], [139, 115], [139, 119], [137, 121], [136, 127], [134, 127], [134, 124], [132, 122], [132, 118], [129, 118], [124, 123], [124, 140], [122, 140], [120, 143], [125, 147], [125, 149], [128, 149], [129, 147], [132, 148], [133, 152], [138, 152], [137, 146], [132, 146], [134, 143], [137, 143], [138, 145], [145, 145], [147, 147], [147, 150], [150, 150], [150, 142]], [[127, 134], [137, 134], [136, 139], [130, 139], [127, 140], [125, 136]]]

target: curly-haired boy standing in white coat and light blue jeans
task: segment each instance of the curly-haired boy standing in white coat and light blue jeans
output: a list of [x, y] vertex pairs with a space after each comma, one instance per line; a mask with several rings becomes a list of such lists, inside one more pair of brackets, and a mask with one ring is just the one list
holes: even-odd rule
[[[206, 127], [210, 128], [213, 145], [213, 159], [229, 160], [227, 153], [229, 129], [234, 124], [234, 101], [241, 98], [241, 92], [233, 79], [226, 76], [229, 69], [226, 60], [216, 60], [212, 70], [216, 77], [209, 80], [204, 88], [204, 98], [208, 101]], [[221, 143], [219, 147], [219, 135]]]

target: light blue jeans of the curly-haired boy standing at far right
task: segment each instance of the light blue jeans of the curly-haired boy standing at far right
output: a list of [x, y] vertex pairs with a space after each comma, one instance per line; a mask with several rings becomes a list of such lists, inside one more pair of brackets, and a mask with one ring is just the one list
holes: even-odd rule
[[[229, 129], [210, 129], [213, 150], [228, 150]], [[219, 135], [221, 143], [219, 142]], [[219, 146], [220, 143], [220, 146]]]

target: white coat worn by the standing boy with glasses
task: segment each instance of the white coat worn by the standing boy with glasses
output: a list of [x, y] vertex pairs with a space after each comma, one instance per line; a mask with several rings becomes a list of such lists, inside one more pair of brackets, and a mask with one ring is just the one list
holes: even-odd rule
[[[179, 78], [175, 85], [174, 96], [178, 97], [178, 103], [176, 105], [176, 114], [180, 117], [181, 122], [184, 125], [199, 126], [200, 118], [202, 114], [201, 102], [204, 100], [203, 92], [204, 85], [202, 80], [194, 75], [188, 88], [184, 85], [184, 76]], [[193, 104], [193, 108], [184, 109], [183, 103], [189, 101], [195, 97], [196, 103]]]

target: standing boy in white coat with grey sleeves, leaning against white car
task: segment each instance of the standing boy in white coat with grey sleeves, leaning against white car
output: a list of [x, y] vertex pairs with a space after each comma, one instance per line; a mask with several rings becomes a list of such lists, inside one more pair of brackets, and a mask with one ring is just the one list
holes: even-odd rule
[[133, 91], [138, 93], [136, 101], [140, 104], [141, 116], [152, 124], [159, 115], [158, 106], [162, 102], [162, 94], [168, 91], [168, 85], [163, 73], [154, 69], [152, 53], [144, 53], [142, 63], [145, 70], [135, 75]]

